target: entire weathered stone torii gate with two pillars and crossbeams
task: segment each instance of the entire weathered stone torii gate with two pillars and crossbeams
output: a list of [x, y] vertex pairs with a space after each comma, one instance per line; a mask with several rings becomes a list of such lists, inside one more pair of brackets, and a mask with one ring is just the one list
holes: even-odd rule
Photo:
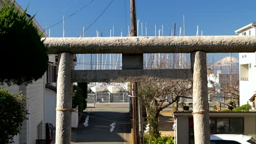
[[[255, 52], [255, 37], [42, 38], [49, 54], [60, 54], [57, 77], [56, 143], [71, 143], [72, 82], [117, 79], [193, 79], [195, 143], [210, 143], [206, 53]], [[191, 69], [72, 70], [74, 53], [191, 53]], [[135, 62], [131, 59], [131, 62]], [[135, 62], [136, 63], [136, 62]]]

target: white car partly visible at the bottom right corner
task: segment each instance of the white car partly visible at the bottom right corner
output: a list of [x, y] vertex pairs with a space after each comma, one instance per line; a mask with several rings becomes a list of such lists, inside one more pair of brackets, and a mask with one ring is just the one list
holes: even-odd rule
[[211, 135], [211, 144], [256, 144], [256, 140], [249, 135], [216, 134]]

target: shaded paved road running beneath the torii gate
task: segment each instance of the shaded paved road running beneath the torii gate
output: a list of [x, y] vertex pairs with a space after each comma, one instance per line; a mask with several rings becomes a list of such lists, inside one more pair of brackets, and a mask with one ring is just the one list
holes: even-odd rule
[[[78, 124], [77, 129], [72, 130], [73, 143], [90, 143], [90, 144], [128, 144], [130, 143], [130, 124], [116, 124], [114, 131], [110, 133], [110, 124], [112, 121], [103, 121], [102, 119], [112, 119], [113, 121], [129, 122], [129, 113], [127, 109], [92, 109], [89, 114], [89, 126], [84, 127], [83, 121]], [[97, 118], [93, 118], [97, 117]]]

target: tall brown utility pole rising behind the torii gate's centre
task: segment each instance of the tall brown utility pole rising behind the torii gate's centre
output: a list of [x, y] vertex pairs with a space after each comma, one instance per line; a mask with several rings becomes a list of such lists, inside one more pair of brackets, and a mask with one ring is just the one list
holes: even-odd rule
[[[130, 15], [131, 15], [131, 37], [138, 36], [136, 25], [136, 5], [135, 0], [130, 0]], [[143, 55], [142, 55], [143, 58]], [[143, 64], [143, 62], [142, 62]], [[143, 69], [143, 67], [142, 67]], [[133, 143], [139, 144], [139, 130], [138, 130], [138, 83], [132, 82], [132, 128], [133, 128]], [[142, 130], [143, 131], [143, 130]]]

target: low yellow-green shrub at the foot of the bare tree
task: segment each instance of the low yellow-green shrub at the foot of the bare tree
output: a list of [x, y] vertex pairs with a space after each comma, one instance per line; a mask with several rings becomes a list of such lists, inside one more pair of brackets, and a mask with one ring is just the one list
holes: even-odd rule
[[172, 137], [160, 136], [158, 139], [150, 138], [149, 135], [143, 136], [144, 144], [174, 144]]

